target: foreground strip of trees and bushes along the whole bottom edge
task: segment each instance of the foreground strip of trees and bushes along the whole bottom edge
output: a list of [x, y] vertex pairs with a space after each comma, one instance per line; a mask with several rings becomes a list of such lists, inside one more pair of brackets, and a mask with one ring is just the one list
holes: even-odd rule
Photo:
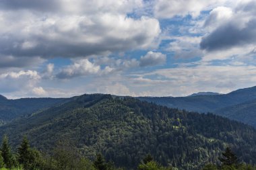
[[[230, 147], [218, 157], [218, 164], [207, 164], [202, 170], [255, 170], [253, 165], [241, 163]], [[125, 170], [123, 167], [115, 167], [114, 162], [106, 161], [100, 153], [93, 161], [79, 155], [76, 148], [68, 142], [58, 142], [51, 151], [51, 155], [40, 153], [36, 148], [31, 148], [26, 136], [18, 146], [17, 152], [11, 151], [7, 136], [3, 137], [0, 148], [1, 170]], [[152, 155], [145, 155], [137, 167], [137, 170], [178, 170], [177, 167], [164, 167], [154, 160]]]

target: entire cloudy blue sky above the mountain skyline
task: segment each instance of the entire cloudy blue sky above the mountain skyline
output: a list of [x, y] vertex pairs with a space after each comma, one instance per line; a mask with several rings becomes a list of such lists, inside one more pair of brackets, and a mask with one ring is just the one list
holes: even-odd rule
[[0, 94], [186, 96], [256, 85], [256, 0], [1, 0]]

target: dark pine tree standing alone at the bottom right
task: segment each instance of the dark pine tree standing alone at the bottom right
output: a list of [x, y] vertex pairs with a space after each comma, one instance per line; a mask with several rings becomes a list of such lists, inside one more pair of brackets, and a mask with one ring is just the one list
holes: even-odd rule
[[222, 163], [222, 166], [223, 165], [226, 165], [226, 166], [234, 165], [235, 167], [238, 167], [238, 165], [239, 165], [239, 160], [236, 157], [236, 155], [231, 151], [230, 147], [227, 147], [225, 152], [222, 153], [222, 157], [219, 157], [218, 159]]

